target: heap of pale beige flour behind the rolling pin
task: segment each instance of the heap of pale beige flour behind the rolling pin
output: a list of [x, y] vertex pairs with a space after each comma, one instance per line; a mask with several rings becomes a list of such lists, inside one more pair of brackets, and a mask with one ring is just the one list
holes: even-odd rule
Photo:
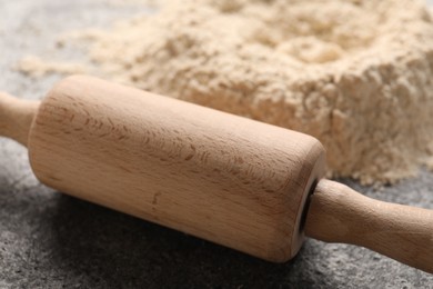
[[171, 0], [87, 37], [111, 79], [316, 137], [334, 177], [392, 182], [432, 161], [422, 2]]

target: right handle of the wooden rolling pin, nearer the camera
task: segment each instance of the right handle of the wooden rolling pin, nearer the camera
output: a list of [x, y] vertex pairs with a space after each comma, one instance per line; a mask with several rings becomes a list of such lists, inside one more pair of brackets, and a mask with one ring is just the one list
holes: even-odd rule
[[305, 233], [363, 246], [433, 273], [433, 210], [374, 200], [321, 180], [311, 196]]

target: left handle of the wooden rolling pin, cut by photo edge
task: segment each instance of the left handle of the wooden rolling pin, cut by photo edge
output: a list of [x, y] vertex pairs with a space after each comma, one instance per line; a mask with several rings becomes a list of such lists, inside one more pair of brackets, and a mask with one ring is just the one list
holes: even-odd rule
[[27, 140], [39, 101], [23, 100], [0, 92], [0, 136], [27, 147]]

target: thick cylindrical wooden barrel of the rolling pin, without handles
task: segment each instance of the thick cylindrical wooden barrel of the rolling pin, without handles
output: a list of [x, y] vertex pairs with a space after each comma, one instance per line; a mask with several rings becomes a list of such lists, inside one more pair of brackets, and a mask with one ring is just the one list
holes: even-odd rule
[[52, 188], [272, 261], [324, 168], [310, 136], [89, 77], [49, 92], [28, 147]]

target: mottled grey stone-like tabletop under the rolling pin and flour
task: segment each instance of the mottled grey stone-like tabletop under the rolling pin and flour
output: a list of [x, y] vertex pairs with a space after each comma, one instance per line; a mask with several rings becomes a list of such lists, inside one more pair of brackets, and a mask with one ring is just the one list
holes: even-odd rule
[[[40, 99], [60, 76], [31, 79], [19, 59], [83, 60], [59, 34], [147, 12], [109, 0], [0, 0], [0, 90]], [[433, 173], [381, 190], [386, 201], [433, 208]], [[432, 225], [433, 226], [433, 225]], [[0, 139], [0, 288], [433, 288], [433, 276], [364, 248], [306, 240], [295, 259], [269, 263], [40, 185], [24, 148]]]

